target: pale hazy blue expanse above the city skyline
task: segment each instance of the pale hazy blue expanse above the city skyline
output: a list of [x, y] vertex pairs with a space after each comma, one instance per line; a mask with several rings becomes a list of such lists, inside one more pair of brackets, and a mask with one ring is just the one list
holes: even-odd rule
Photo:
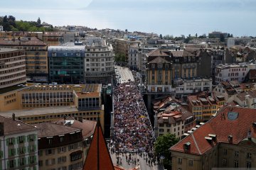
[[0, 16], [53, 26], [201, 35], [213, 30], [256, 36], [255, 0], [1, 0]]

